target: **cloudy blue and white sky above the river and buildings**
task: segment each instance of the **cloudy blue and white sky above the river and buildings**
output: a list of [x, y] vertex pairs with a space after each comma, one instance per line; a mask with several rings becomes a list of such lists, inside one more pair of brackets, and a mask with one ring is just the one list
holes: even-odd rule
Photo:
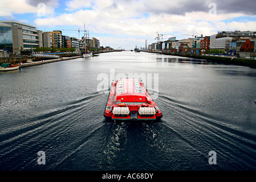
[[158, 35], [164, 41], [256, 31], [255, 9], [255, 0], [1, 0], [0, 20], [75, 38], [86, 30], [100, 46], [134, 49], [157, 42]]

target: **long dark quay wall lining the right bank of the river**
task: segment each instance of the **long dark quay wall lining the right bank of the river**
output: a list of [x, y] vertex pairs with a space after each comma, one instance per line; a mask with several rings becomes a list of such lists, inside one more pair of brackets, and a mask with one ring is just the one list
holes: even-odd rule
[[241, 65], [241, 66], [250, 67], [250, 68], [256, 68], [256, 60], [250, 60], [250, 59], [241, 59], [241, 58], [235, 58], [235, 57], [189, 55], [185, 53], [165, 53], [165, 52], [150, 52], [150, 53], [159, 53], [162, 55], [181, 56], [181, 57], [191, 57], [194, 59], [209, 60], [214, 63], [234, 64], [234, 65]]

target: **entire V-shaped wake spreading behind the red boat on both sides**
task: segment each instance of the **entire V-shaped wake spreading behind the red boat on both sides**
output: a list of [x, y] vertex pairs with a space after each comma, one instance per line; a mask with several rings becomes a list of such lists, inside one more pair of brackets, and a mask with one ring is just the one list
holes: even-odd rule
[[[25, 121], [19, 118], [16, 122], [23, 125], [3, 127], [1, 169], [255, 169], [255, 135], [224, 118], [160, 93], [155, 100], [164, 115], [160, 122], [109, 123], [103, 117], [107, 97], [90, 93], [51, 105]], [[218, 156], [215, 166], [208, 164], [212, 150]], [[36, 163], [38, 151], [46, 152], [43, 167]]]

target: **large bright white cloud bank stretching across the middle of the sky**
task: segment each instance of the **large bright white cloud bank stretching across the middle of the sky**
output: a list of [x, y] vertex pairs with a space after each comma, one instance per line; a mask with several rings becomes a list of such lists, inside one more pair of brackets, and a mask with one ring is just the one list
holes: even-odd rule
[[[55, 26], [70, 25], [80, 26], [81, 28], [83, 24], [86, 23], [86, 28], [91, 31], [113, 35], [121, 34], [153, 37], [156, 36], [156, 32], [160, 32], [161, 34], [183, 32], [183, 34], [210, 35], [213, 34], [214, 31], [223, 30], [224, 27], [241, 27], [238, 26], [240, 24], [238, 22], [226, 24], [220, 21], [243, 15], [241, 13], [229, 13], [212, 16], [208, 12], [196, 11], [185, 13], [184, 15], [168, 13], [156, 14], [149, 12], [148, 17], [143, 17], [143, 13], [148, 11], [137, 11], [139, 7], [143, 9], [142, 1], [138, 3], [134, 1], [130, 2], [131, 6], [127, 6], [127, 1], [115, 4], [112, 0], [104, 0], [104, 2], [106, 2], [104, 5], [102, 1], [103, 0], [95, 1], [94, 6], [92, 6], [90, 10], [78, 10], [52, 18], [36, 19], [35, 23], [37, 26], [50, 26], [55, 24]], [[72, 2], [78, 2], [78, 0]], [[151, 0], [148, 3], [153, 2], [154, 1]], [[177, 1], [175, 2], [177, 3]], [[168, 3], [168, 1], [165, 1], [164, 5], [167, 6]], [[156, 3], [153, 3], [151, 6], [153, 5], [157, 6]], [[162, 5], [160, 7], [162, 7]], [[252, 28], [254, 26], [253, 23], [245, 22], [243, 26]]]

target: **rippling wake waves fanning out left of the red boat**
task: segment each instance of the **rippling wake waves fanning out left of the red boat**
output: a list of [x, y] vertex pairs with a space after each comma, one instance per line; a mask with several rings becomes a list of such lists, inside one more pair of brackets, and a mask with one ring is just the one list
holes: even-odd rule
[[[30, 114], [30, 118], [26, 119], [26, 122], [23, 118], [15, 118], [17, 120], [15, 122], [21, 122], [23, 125], [5, 127], [6, 129], [1, 130], [0, 133], [1, 169], [34, 168], [37, 164], [32, 163], [35, 160], [32, 154], [36, 155], [40, 150], [47, 151], [48, 154], [58, 154], [59, 151], [62, 152], [60, 148], [66, 148], [63, 151], [69, 152], [64, 155], [63, 160], [65, 160], [67, 156], [79, 150], [79, 146], [82, 145], [78, 140], [80, 136], [88, 138], [101, 126], [103, 108], [99, 115], [95, 105], [102, 105], [103, 97], [102, 94], [95, 92], [79, 100], [59, 104], [56, 108], [49, 107], [34, 116], [32, 113], [27, 113]], [[95, 122], [89, 122], [92, 118]], [[84, 130], [79, 130], [83, 127]], [[70, 146], [67, 146], [68, 140], [70, 140], [68, 142]], [[72, 143], [75, 143], [75, 146]], [[71, 154], [69, 154], [70, 151]], [[20, 152], [22, 152], [22, 158], [17, 155]], [[21, 160], [19, 163], [21, 166], [17, 164], [11, 166], [13, 158], [17, 158], [17, 162]], [[54, 158], [56, 161], [52, 165], [61, 163], [59, 159], [62, 157]], [[24, 164], [26, 165], [23, 166]]]

